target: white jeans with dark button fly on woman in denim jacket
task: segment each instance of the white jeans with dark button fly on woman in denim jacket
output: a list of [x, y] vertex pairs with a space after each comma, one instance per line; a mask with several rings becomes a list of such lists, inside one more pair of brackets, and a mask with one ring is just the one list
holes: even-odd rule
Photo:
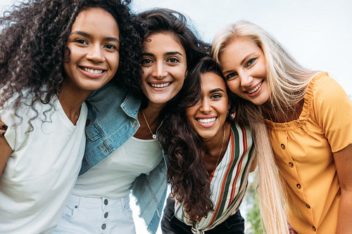
[[54, 231], [72, 234], [135, 234], [130, 197], [80, 197], [70, 195]]

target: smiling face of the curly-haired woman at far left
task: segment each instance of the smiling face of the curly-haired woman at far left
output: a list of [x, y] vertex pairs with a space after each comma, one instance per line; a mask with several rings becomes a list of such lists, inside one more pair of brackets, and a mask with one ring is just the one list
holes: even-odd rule
[[69, 61], [63, 64], [65, 83], [90, 93], [113, 78], [119, 61], [118, 24], [101, 8], [81, 11], [68, 37]]

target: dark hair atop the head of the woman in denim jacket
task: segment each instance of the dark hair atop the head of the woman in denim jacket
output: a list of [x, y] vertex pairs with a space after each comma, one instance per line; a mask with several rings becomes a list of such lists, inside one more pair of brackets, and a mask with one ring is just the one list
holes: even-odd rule
[[[187, 22], [186, 16], [178, 11], [168, 8], [153, 8], [138, 13], [134, 22], [136, 23], [135, 27], [139, 29], [142, 40], [146, 40], [146, 37], [151, 34], [160, 32], [169, 32], [174, 35], [186, 51], [187, 70], [191, 70], [201, 58], [210, 53], [210, 44], [200, 39], [196, 29]], [[144, 98], [142, 108], [146, 107], [146, 103], [147, 100]], [[160, 116], [168, 111], [167, 106]]]

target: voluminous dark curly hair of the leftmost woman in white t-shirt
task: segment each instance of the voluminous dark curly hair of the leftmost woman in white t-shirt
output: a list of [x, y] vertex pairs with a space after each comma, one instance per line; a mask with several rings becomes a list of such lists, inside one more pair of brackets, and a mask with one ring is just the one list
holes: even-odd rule
[[28, 91], [33, 109], [35, 102], [48, 104], [60, 93], [65, 54], [70, 53], [66, 43], [75, 18], [87, 8], [102, 8], [118, 22], [120, 63], [111, 82], [141, 93], [142, 46], [129, 4], [127, 0], [29, 0], [12, 6], [0, 18], [0, 108], [15, 94], [17, 112]]

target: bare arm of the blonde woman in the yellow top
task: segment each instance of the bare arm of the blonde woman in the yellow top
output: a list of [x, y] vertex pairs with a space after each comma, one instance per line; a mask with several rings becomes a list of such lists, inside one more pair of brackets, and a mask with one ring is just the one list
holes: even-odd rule
[[348, 234], [352, 233], [352, 145], [333, 155], [341, 187], [337, 234]]

